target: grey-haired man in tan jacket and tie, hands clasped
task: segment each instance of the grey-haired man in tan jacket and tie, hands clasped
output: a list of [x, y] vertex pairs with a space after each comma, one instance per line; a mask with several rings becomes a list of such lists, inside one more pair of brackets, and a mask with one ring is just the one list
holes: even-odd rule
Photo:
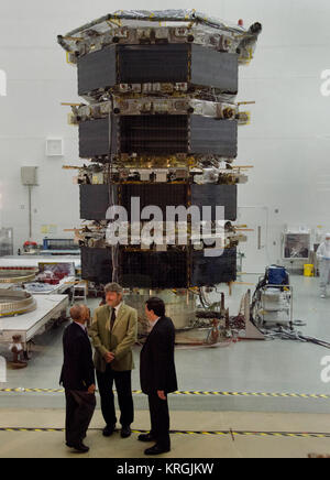
[[113, 382], [121, 411], [121, 436], [131, 436], [134, 421], [132, 396], [132, 347], [138, 338], [138, 312], [123, 303], [123, 290], [117, 283], [106, 286], [107, 305], [95, 312], [90, 328], [101, 408], [106, 421], [105, 437], [110, 437], [117, 424]]

